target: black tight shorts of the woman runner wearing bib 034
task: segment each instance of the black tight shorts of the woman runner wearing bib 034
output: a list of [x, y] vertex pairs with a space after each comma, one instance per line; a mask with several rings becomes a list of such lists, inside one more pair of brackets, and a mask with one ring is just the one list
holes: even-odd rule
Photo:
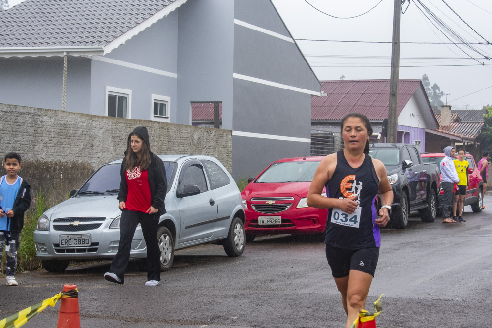
[[362, 271], [374, 276], [378, 258], [379, 247], [342, 249], [326, 245], [326, 259], [334, 278], [346, 277], [350, 270]]

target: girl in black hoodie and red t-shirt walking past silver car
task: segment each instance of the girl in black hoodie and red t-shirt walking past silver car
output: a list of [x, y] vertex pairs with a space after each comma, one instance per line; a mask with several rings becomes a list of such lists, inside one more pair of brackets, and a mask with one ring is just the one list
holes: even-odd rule
[[166, 212], [164, 198], [167, 179], [164, 163], [150, 150], [149, 132], [139, 126], [128, 136], [125, 157], [120, 169], [120, 192], [118, 207], [120, 217], [120, 243], [109, 272], [108, 281], [123, 284], [124, 271], [128, 265], [130, 248], [137, 225], [140, 223], [147, 245], [146, 286], [160, 283], [160, 250], [157, 228], [160, 215]]

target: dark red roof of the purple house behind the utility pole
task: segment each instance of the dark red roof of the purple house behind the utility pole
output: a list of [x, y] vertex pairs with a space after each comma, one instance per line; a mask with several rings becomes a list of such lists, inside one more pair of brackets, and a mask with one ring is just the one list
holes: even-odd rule
[[[390, 80], [320, 81], [326, 96], [311, 97], [311, 120], [341, 120], [348, 113], [362, 113], [369, 120], [388, 117]], [[421, 88], [420, 80], [400, 80], [398, 115], [410, 97]]]

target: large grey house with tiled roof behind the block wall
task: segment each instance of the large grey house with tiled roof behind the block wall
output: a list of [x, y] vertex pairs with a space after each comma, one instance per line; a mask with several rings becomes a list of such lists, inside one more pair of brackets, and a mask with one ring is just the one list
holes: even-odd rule
[[186, 125], [218, 103], [235, 178], [309, 149], [321, 86], [270, 0], [27, 0], [0, 22], [0, 103]]

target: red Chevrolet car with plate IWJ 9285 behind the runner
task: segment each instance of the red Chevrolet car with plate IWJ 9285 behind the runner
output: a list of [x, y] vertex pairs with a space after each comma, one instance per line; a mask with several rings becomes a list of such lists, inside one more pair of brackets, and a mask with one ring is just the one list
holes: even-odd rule
[[314, 172], [323, 157], [280, 159], [241, 192], [246, 240], [259, 234], [312, 234], [325, 230], [327, 209], [307, 206]]

